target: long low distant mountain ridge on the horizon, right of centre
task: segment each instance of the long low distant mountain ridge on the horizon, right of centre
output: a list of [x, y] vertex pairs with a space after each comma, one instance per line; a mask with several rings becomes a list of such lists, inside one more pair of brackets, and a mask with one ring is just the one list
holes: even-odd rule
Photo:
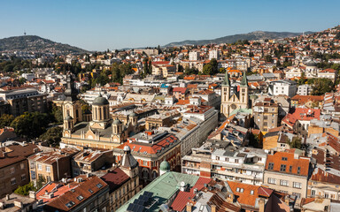
[[[255, 31], [248, 34], [234, 34], [228, 35], [212, 40], [186, 40], [183, 42], [170, 42], [165, 45], [165, 47], [174, 47], [174, 46], [184, 46], [184, 45], [205, 45], [210, 43], [233, 43], [237, 42], [238, 40], [265, 40], [265, 39], [280, 39], [280, 38], [287, 38], [287, 37], [295, 37], [301, 35], [302, 33], [290, 33], [290, 32], [267, 32], [267, 31]], [[313, 34], [313, 32], [305, 32], [305, 34]]]

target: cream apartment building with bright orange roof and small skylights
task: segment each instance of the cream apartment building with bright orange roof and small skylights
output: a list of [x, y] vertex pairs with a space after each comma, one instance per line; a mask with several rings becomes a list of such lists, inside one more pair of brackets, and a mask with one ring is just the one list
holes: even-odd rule
[[305, 198], [310, 176], [310, 158], [290, 152], [271, 152], [267, 155], [263, 185]]

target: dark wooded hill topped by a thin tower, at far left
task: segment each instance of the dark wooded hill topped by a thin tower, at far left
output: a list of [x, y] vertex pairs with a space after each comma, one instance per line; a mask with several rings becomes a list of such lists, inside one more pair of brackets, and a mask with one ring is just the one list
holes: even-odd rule
[[60, 51], [69, 53], [84, 53], [88, 50], [73, 47], [68, 44], [52, 42], [37, 35], [23, 35], [0, 39], [0, 51]]

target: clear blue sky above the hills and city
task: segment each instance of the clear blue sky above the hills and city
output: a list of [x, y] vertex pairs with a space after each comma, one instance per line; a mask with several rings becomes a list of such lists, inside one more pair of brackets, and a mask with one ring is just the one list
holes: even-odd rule
[[340, 1], [0, 0], [0, 38], [27, 34], [104, 50], [213, 39], [256, 30], [320, 31], [340, 24]]

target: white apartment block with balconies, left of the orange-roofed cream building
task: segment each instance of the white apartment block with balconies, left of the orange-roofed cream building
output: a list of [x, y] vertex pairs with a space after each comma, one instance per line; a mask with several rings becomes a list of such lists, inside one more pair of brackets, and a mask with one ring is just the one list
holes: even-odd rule
[[258, 148], [236, 148], [228, 141], [207, 140], [182, 158], [182, 173], [205, 178], [261, 185], [267, 153]]

